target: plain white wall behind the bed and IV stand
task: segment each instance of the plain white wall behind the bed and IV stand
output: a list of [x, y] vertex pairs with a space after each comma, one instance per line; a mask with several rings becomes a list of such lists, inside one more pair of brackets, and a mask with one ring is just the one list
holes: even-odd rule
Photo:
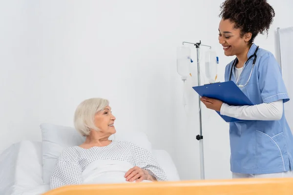
[[[185, 110], [176, 47], [199, 40], [213, 46], [223, 81], [233, 58], [224, 56], [217, 40], [221, 2], [1, 1], [0, 150], [22, 139], [41, 140], [42, 122], [72, 126], [78, 103], [104, 97], [118, 131], [146, 132], [155, 148], [171, 154], [182, 179], [199, 179], [198, 98], [191, 89], [196, 50]], [[274, 31], [293, 25], [293, 2], [269, 2], [274, 23], [269, 37], [255, 42], [275, 52]], [[205, 107], [202, 113], [206, 178], [230, 178], [228, 124]]]

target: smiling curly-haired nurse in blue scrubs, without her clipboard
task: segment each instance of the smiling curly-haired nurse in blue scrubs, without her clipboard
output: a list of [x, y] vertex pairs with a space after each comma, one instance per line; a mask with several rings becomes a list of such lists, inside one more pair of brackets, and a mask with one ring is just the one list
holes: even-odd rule
[[286, 121], [289, 101], [281, 69], [271, 52], [253, 40], [267, 32], [275, 13], [267, 0], [226, 0], [221, 6], [219, 42], [236, 56], [225, 70], [254, 106], [230, 106], [202, 97], [207, 108], [243, 119], [230, 122], [230, 170], [233, 178], [293, 177], [293, 135]]

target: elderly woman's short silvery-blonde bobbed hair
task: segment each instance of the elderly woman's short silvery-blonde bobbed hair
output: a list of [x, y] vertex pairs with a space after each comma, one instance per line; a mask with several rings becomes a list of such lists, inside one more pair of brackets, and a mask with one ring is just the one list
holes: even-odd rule
[[81, 102], [75, 110], [74, 126], [82, 135], [88, 136], [90, 130], [99, 131], [95, 126], [95, 115], [109, 105], [109, 100], [103, 98], [90, 98]]

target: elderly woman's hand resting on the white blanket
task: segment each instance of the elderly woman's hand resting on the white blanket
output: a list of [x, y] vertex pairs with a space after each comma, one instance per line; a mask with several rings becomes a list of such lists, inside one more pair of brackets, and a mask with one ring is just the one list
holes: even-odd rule
[[153, 176], [149, 175], [148, 171], [139, 168], [137, 166], [129, 169], [127, 173], [125, 174], [126, 181], [132, 182], [141, 182], [143, 180], [150, 180], [150, 181], [155, 181], [156, 178]]

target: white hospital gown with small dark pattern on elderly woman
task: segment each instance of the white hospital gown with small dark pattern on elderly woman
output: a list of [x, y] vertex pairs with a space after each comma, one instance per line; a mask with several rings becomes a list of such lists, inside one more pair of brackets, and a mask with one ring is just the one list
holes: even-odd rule
[[147, 170], [157, 180], [167, 180], [164, 170], [149, 151], [131, 142], [113, 140], [105, 147], [84, 149], [74, 146], [63, 150], [51, 176], [51, 189], [82, 184], [82, 172], [98, 159], [127, 161], [133, 167]]

